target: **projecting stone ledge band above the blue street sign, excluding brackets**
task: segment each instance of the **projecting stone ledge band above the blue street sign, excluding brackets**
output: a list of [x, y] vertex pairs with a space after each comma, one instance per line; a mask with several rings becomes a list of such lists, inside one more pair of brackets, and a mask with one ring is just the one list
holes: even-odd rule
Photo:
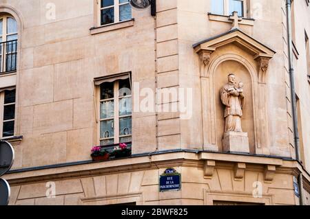
[[[198, 150], [178, 150], [163, 151], [156, 154], [138, 154], [127, 159], [117, 159], [105, 162], [84, 161], [76, 164], [63, 163], [61, 165], [53, 165], [48, 167], [28, 168], [21, 170], [12, 170], [3, 178], [10, 184], [32, 183], [46, 180], [56, 180], [58, 178], [74, 178], [81, 176], [90, 176], [97, 174], [111, 174], [114, 172], [128, 172], [135, 170], [146, 170], [150, 168], [166, 168], [168, 166], [199, 166], [203, 168], [203, 162], [225, 161], [233, 163], [254, 163], [260, 165], [276, 165], [285, 167], [292, 165], [293, 169], [298, 168], [291, 164], [296, 161], [284, 161], [281, 158], [258, 157], [242, 154], [223, 154], [218, 152], [201, 152]], [[287, 165], [283, 165], [287, 163]]]

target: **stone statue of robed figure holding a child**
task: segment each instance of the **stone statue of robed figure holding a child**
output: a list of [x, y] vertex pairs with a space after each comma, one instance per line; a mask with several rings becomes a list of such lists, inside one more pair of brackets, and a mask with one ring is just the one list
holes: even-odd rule
[[220, 90], [220, 99], [225, 105], [225, 133], [242, 132], [241, 117], [242, 108], [245, 105], [243, 83], [236, 83], [234, 73], [229, 73], [228, 84]]

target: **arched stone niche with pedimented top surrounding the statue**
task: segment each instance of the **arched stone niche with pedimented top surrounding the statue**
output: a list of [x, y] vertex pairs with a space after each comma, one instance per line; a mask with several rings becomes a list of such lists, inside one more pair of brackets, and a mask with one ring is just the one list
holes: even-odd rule
[[220, 89], [229, 73], [245, 84], [242, 129], [248, 133], [251, 154], [269, 154], [265, 74], [274, 51], [240, 30], [194, 45], [200, 60], [203, 97], [204, 150], [222, 151], [225, 127]]

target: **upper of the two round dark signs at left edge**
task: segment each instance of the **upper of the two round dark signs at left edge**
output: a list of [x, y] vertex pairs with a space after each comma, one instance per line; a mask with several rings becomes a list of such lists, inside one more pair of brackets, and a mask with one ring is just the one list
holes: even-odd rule
[[12, 168], [14, 162], [14, 149], [7, 141], [0, 142], [0, 176]]

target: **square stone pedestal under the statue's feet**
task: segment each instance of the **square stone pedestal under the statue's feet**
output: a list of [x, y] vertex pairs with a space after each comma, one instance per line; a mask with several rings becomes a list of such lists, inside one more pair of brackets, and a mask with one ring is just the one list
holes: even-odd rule
[[249, 153], [249, 137], [246, 132], [226, 132], [222, 143], [224, 152]]

